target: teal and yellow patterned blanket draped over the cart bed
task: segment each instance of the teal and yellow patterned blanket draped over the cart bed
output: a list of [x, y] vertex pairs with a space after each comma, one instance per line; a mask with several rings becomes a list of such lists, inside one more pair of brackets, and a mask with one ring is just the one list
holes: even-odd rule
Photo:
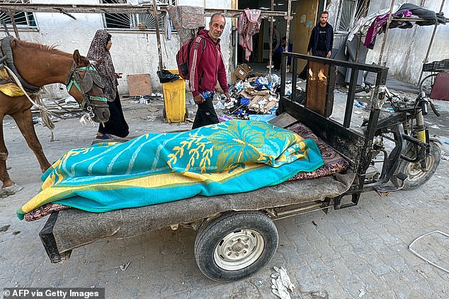
[[23, 219], [48, 202], [101, 213], [249, 192], [322, 165], [311, 139], [266, 122], [232, 120], [69, 151], [42, 175], [40, 192], [17, 214]]

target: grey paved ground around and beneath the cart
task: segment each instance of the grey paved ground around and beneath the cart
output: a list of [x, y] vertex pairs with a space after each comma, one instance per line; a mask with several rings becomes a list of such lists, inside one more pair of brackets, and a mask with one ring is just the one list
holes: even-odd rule
[[[157, 105], [156, 105], [157, 104]], [[449, 102], [438, 102], [444, 115], [433, 122], [441, 141], [449, 141]], [[191, 124], [163, 124], [161, 105], [124, 102], [132, 134], [190, 129]], [[159, 108], [149, 112], [149, 107]], [[77, 119], [36, 125], [49, 160], [69, 148], [89, 146], [95, 127]], [[448, 160], [441, 160], [430, 182], [414, 191], [379, 197], [363, 194], [350, 209], [294, 216], [275, 224], [280, 245], [273, 260], [253, 276], [234, 283], [210, 281], [193, 257], [195, 232], [169, 228], [126, 240], [102, 240], [72, 252], [63, 264], [51, 264], [38, 238], [46, 219], [26, 223], [15, 211], [38, 191], [40, 170], [11, 119], [4, 121], [13, 180], [24, 189], [0, 199], [0, 287], [104, 287], [106, 298], [275, 298], [273, 266], [285, 266], [296, 286], [292, 298], [449, 298], [449, 274], [412, 254], [408, 246], [420, 235], [449, 233]], [[449, 154], [449, 145], [443, 144]], [[423, 242], [421, 242], [423, 241]], [[416, 250], [449, 269], [449, 238], [428, 235]], [[125, 271], [120, 265], [130, 263]]]

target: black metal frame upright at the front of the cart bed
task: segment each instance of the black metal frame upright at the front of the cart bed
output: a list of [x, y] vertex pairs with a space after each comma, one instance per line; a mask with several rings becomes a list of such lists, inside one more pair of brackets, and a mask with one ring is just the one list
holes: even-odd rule
[[[285, 71], [288, 57], [292, 59], [291, 95], [285, 95]], [[297, 84], [298, 59], [328, 64], [330, 70], [338, 66], [351, 69], [351, 80], [349, 82], [348, 96], [346, 98], [346, 109], [343, 117], [343, 124], [335, 122], [333, 119], [329, 119], [329, 117], [319, 115], [317, 112], [307, 109], [307, 107], [299, 102], [295, 102], [295, 99], [297, 98], [297, 90], [295, 86]], [[290, 52], [282, 53], [281, 68], [281, 90], [278, 108], [279, 114], [288, 112], [300, 122], [304, 122], [307, 127], [314, 132], [314, 134], [349, 160], [351, 170], [357, 175], [356, 180], [353, 182], [353, 185], [348, 192], [345, 192], [344, 194], [341, 194], [340, 197], [334, 199], [334, 207], [335, 209], [341, 209], [349, 206], [356, 206], [358, 204], [360, 194], [364, 191], [368, 191], [364, 188], [365, 172], [371, 163], [373, 139], [377, 132], [377, 122], [379, 120], [380, 108], [385, 100], [385, 81], [387, 79], [388, 69], [382, 66], [326, 59]], [[350, 128], [353, 99], [356, 94], [357, 76], [359, 71], [368, 71], [376, 74], [373, 102], [370, 107], [370, 118], [363, 131], [356, 131]], [[334, 71], [329, 71], [328, 76], [328, 80], [332, 81], [334, 79], [332, 76], [336, 76], [336, 74]], [[329, 96], [329, 94], [326, 96]], [[328, 101], [326, 100], [326, 102]], [[401, 133], [403, 134], [403, 132]], [[402, 134], [399, 135], [402, 136]], [[397, 155], [400, 155], [400, 153], [402, 153], [402, 146], [399, 146], [397, 151]], [[394, 154], [392, 157], [396, 157], [397, 155]], [[395, 163], [397, 163], [397, 161]], [[390, 170], [391, 169], [393, 168], [390, 168]], [[388, 175], [391, 176], [390, 172]], [[390, 178], [390, 176], [388, 176], [388, 178]], [[373, 189], [373, 187], [370, 187], [370, 189]], [[341, 199], [346, 196], [351, 197], [351, 202], [341, 204]]]

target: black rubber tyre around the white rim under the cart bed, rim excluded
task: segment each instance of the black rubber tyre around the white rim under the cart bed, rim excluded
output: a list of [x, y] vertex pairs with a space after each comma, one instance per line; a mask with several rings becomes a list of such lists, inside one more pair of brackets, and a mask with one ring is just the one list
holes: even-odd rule
[[[265, 247], [261, 256], [244, 269], [229, 271], [214, 261], [215, 247], [229, 233], [240, 229], [256, 230], [263, 237]], [[279, 242], [278, 230], [273, 221], [261, 212], [226, 213], [205, 225], [195, 240], [195, 260], [198, 268], [213, 281], [237, 281], [266, 266], [273, 258]]]

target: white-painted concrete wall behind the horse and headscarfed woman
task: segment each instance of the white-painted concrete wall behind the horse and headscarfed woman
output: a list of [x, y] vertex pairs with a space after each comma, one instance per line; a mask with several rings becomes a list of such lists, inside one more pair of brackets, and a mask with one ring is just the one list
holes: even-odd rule
[[[35, 0], [33, 4], [98, 4], [98, 0]], [[206, 8], [231, 8], [231, 0], [178, 0], [178, 5], [205, 6]], [[103, 15], [101, 13], [73, 13], [76, 20], [62, 13], [35, 13], [38, 30], [20, 30], [22, 40], [38, 42], [44, 45], [57, 45], [58, 49], [65, 52], [74, 52], [79, 49], [82, 55], [86, 55], [91, 45], [96, 30], [103, 29]], [[209, 18], [205, 18], [205, 24]], [[155, 33], [139, 30], [113, 30], [108, 29], [113, 36], [113, 47], [110, 49], [115, 70], [123, 73], [119, 79], [119, 93], [127, 93], [127, 74], [150, 74], [153, 90], [161, 90], [157, 69], [159, 57], [157, 54], [157, 38]], [[232, 58], [232, 43], [230, 42], [232, 24], [227, 20], [226, 28], [222, 35], [222, 52], [224, 64], [232, 66], [229, 61]], [[0, 31], [0, 36], [4, 31]], [[176, 69], [176, 52], [180, 43], [177, 34], [172, 35], [171, 40], [166, 40], [161, 35], [162, 59], [167, 69]], [[230, 74], [230, 72], [229, 72]], [[47, 90], [54, 96], [65, 96], [65, 88], [59, 85], [49, 86]]]

